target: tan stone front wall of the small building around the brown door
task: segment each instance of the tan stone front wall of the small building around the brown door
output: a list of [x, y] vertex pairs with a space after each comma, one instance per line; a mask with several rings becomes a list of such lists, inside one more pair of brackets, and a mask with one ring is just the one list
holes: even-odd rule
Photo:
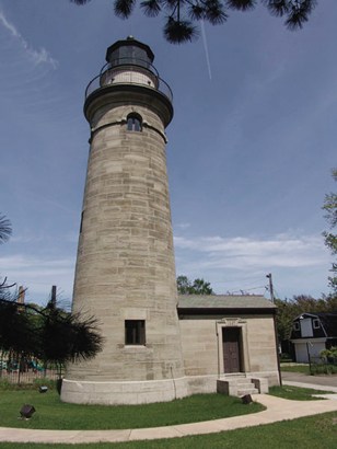
[[216, 389], [212, 380], [225, 375], [221, 329], [228, 324], [226, 318], [230, 323], [237, 322], [242, 327], [242, 372], [248, 377], [267, 378], [270, 385], [278, 384], [274, 316], [244, 314], [240, 318], [185, 316], [179, 321], [185, 373], [189, 384], [200, 385], [204, 382], [208, 388], [212, 384]]

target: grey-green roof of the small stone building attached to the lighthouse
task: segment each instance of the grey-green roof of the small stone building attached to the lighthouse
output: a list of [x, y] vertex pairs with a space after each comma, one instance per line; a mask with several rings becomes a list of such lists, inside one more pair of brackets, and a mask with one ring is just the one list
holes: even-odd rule
[[274, 313], [276, 306], [262, 295], [179, 295], [179, 313]]

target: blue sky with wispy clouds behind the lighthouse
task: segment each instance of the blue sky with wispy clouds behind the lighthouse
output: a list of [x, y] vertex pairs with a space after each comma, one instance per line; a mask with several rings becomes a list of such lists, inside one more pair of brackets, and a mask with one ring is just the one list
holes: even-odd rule
[[[176, 272], [217, 293], [327, 293], [322, 204], [337, 165], [337, 2], [300, 32], [263, 7], [166, 43], [162, 19], [114, 16], [112, 1], [0, 0], [0, 276], [45, 302], [71, 299], [88, 160], [86, 84], [106, 48], [150, 45], [174, 94], [167, 166]], [[266, 292], [268, 296], [268, 292]]]

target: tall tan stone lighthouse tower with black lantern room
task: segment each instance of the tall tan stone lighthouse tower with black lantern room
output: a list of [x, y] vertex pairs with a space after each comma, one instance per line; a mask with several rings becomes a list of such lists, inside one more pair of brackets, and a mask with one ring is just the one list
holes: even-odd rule
[[118, 41], [85, 92], [90, 156], [73, 310], [98, 320], [104, 347], [67, 367], [66, 402], [187, 395], [165, 157], [172, 94], [153, 59], [131, 36]]

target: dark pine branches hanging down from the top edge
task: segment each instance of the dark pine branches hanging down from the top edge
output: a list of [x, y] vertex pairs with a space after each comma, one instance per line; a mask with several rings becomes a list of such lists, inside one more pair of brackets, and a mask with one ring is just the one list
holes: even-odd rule
[[[91, 0], [70, 0], [75, 4], [85, 4]], [[137, 0], [112, 0], [115, 14], [128, 19]], [[198, 36], [196, 23], [207, 21], [212, 25], [224, 23], [230, 11], [253, 10], [257, 0], [142, 0], [139, 2], [143, 13], [149, 18], [164, 15], [164, 36], [173, 44], [193, 41]], [[289, 30], [301, 28], [313, 9], [316, 0], [260, 0], [271, 15], [286, 18]]]

